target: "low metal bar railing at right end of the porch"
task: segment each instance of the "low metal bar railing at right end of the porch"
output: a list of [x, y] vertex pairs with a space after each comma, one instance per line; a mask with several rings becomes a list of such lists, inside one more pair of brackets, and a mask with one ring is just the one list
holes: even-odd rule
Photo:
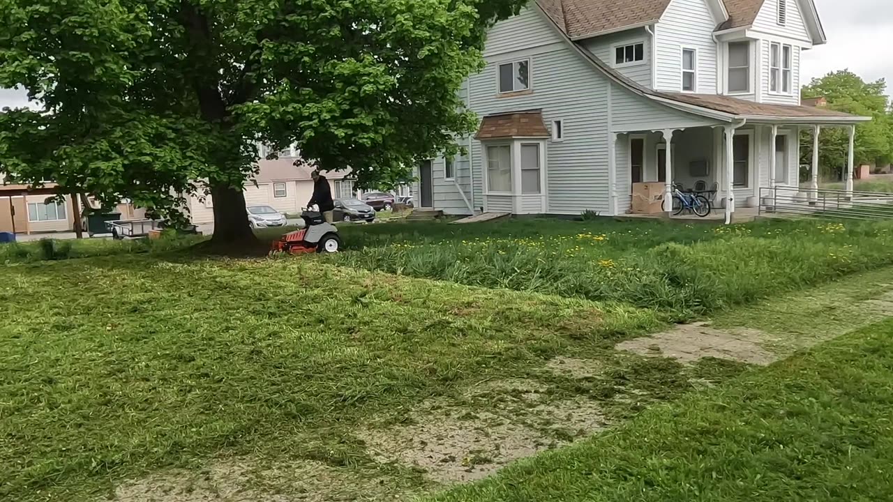
[[893, 219], [893, 193], [795, 187], [760, 188], [759, 214], [847, 220]]

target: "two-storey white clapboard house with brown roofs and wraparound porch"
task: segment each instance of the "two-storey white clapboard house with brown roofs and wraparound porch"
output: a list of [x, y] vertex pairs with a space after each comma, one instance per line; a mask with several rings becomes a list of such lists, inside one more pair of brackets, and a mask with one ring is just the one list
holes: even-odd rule
[[470, 155], [421, 163], [416, 205], [616, 215], [632, 183], [676, 181], [715, 188], [730, 219], [797, 187], [799, 130], [870, 120], [801, 105], [801, 54], [825, 42], [813, 0], [531, 1], [463, 85]]

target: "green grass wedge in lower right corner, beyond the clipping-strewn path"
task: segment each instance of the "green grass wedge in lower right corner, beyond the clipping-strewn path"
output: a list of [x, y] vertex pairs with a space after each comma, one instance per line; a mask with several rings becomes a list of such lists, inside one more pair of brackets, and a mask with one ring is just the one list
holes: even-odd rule
[[432, 500], [893, 499], [891, 334], [872, 325]]

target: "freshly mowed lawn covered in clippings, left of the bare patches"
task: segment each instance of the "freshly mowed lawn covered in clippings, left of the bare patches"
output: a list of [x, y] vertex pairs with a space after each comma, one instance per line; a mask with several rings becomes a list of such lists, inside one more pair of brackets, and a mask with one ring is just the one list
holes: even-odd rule
[[313, 259], [123, 255], [2, 276], [0, 499], [22, 502], [90, 500], [220, 455], [363, 463], [343, 431], [371, 416], [659, 326]]

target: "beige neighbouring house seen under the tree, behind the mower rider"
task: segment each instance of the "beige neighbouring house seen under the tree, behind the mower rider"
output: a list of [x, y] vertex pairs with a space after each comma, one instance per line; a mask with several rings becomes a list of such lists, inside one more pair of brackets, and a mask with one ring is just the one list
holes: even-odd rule
[[[297, 165], [296, 165], [297, 163]], [[259, 171], [245, 184], [245, 204], [270, 205], [281, 213], [300, 213], [313, 196], [313, 166], [303, 163], [290, 152], [280, 152], [277, 160], [258, 161]], [[333, 198], [355, 197], [354, 182], [345, 180], [349, 172], [323, 172], [330, 183]], [[191, 196], [188, 210], [192, 223], [213, 223], [213, 197]]]

